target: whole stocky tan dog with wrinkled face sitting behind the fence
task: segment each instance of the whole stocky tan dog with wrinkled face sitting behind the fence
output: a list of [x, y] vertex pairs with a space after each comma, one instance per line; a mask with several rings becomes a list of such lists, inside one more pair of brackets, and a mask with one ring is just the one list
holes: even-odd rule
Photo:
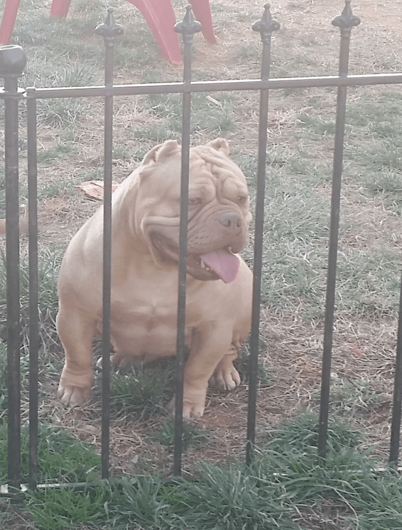
[[[112, 357], [176, 353], [181, 151], [154, 147], [112, 196]], [[57, 330], [66, 352], [58, 396], [80, 405], [93, 382], [92, 339], [102, 329], [102, 208], [70, 242], [59, 276]], [[233, 389], [251, 325], [252, 273], [235, 253], [248, 241], [247, 184], [226, 140], [190, 151], [184, 369], [185, 418], [202, 416], [208, 381]]]

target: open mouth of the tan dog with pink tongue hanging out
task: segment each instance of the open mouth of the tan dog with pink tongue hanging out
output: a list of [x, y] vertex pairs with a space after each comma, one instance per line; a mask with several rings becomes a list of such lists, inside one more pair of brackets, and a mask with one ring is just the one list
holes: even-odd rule
[[[165, 237], [153, 234], [152, 243], [164, 261], [177, 264], [178, 249]], [[197, 280], [223, 280], [226, 284], [233, 281], [239, 270], [239, 258], [230, 247], [203, 254], [187, 255], [187, 274]]]

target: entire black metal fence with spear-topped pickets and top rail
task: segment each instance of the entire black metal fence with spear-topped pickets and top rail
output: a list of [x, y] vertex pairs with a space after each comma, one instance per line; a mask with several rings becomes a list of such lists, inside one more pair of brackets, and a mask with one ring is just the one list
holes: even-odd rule
[[[264, 198], [266, 180], [267, 111], [269, 91], [283, 88], [337, 87], [335, 147], [333, 157], [332, 201], [330, 212], [326, 309], [324, 326], [324, 351], [321, 375], [321, 399], [318, 425], [318, 457], [325, 459], [330, 366], [334, 324], [334, 298], [337, 262], [338, 226], [340, 215], [341, 178], [347, 87], [402, 83], [402, 73], [376, 75], [348, 75], [351, 31], [360, 23], [352, 13], [350, 0], [346, 0], [341, 15], [333, 24], [340, 28], [341, 44], [337, 76], [270, 78], [271, 36], [280, 25], [272, 19], [270, 6], [265, 5], [261, 20], [253, 24], [262, 40], [261, 78], [240, 81], [192, 82], [191, 58], [193, 34], [200, 31], [187, 6], [182, 22], [175, 30], [182, 34], [184, 43], [184, 73], [182, 83], [113, 84], [113, 46], [122, 28], [115, 23], [113, 10], [109, 8], [105, 23], [96, 33], [105, 43], [105, 83], [102, 86], [61, 87], [23, 90], [18, 87], [26, 56], [19, 46], [0, 48], [0, 76], [4, 88], [0, 97], [5, 105], [5, 177], [6, 177], [6, 279], [7, 279], [7, 369], [8, 369], [8, 489], [21, 487], [21, 437], [20, 437], [20, 285], [19, 285], [19, 111], [18, 104], [26, 100], [28, 120], [28, 185], [29, 185], [29, 281], [30, 281], [30, 372], [29, 372], [29, 487], [36, 487], [38, 469], [38, 245], [37, 245], [37, 100], [46, 98], [104, 98], [104, 266], [103, 266], [103, 375], [102, 375], [102, 478], [109, 477], [109, 372], [110, 372], [110, 289], [111, 289], [111, 193], [112, 193], [112, 134], [113, 96], [136, 94], [181, 93], [182, 112], [182, 173], [181, 173], [181, 221], [180, 259], [177, 310], [177, 376], [175, 400], [175, 436], [173, 473], [181, 473], [182, 456], [182, 399], [184, 365], [184, 315], [186, 300], [186, 248], [187, 248], [187, 200], [189, 184], [189, 149], [191, 96], [193, 92], [242, 91], [260, 92], [260, 117], [258, 126], [257, 193], [255, 205], [253, 308], [251, 347], [249, 358], [249, 390], [246, 461], [253, 454], [256, 424], [257, 364], [260, 321], [260, 289], [263, 247]], [[394, 403], [389, 461], [396, 464], [399, 452], [400, 413], [402, 401], [402, 289], [399, 305], [399, 324], [396, 351]], [[14, 490], [15, 491], [15, 490]]]

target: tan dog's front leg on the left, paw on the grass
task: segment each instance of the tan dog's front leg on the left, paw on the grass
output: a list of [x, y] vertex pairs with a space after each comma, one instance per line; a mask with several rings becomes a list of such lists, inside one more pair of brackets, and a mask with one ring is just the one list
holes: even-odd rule
[[57, 395], [64, 405], [77, 407], [91, 396], [96, 322], [87, 321], [76, 310], [67, 311], [60, 305], [56, 327], [66, 354]]

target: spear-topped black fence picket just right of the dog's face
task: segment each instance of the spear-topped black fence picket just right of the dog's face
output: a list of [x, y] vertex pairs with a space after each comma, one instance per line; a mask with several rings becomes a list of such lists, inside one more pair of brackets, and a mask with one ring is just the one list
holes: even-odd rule
[[[272, 32], [279, 30], [280, 24], [272, 19], [270, 5], [265, 4], [265, 11], [261, 20], [253, 24], [253, 31], [261, 34], [263, 43], [261, 60], [261, 79], [270, 77], [271, 66], [271, 37]], [[268, 127], [269, 90], [260, 92], [260, 122], [258, 125], [258, 167], [257, 167], [257, 196], [255, 201], [255, 235], [254, 235], [254, 263], [253, 263], [253, 308], [252, 328], [250, 339], [249, 384], [248, 384], [248, 413], [247, 413], [247, 444], [246, 463], [251, 462], [255, 440], [255, 409], [257, 404], [257, 371], [258, 371], [258, 342], [260, 341], [260, 304], [261, 304], [261, 269], [264, 233], [264, 204], [265, 204], [265, 165], [266, 140]]]

